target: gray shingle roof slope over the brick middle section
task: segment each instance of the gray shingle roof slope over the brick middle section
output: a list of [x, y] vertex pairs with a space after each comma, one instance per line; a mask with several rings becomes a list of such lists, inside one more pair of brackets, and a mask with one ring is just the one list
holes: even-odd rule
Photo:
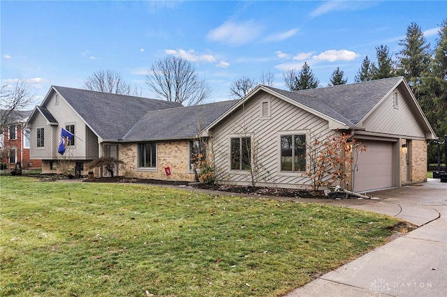
[[239, 100], [147, 112], [124, 140], [188, 139], [210, 125]]

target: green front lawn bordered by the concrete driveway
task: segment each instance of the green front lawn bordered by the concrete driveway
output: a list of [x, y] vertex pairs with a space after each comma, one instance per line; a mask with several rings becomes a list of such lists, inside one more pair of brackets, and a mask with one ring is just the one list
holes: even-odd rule
[[399, 221], [322, 204], [0, 176], [1, 296], [281, 296]]

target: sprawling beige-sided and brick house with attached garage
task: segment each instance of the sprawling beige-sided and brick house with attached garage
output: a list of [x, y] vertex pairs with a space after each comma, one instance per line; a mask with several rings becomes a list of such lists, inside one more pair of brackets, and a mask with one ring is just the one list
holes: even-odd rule
[[75, 134], [71, 160], [112, 156], [126, 164], [120, 175], [193, 181], [191, 155], [206, 139], [217, 182], [281, 188], [309, 188], [309, 144], [343, 132], [367, 146], [344, 168], [356, 192], [426, 181], [436, 139], [403, 77], [295, 92], [260, 85], [242, 100], [192, 107], [52, 86], [27, 125], [43, 172], [57, 169], [64, 127]]

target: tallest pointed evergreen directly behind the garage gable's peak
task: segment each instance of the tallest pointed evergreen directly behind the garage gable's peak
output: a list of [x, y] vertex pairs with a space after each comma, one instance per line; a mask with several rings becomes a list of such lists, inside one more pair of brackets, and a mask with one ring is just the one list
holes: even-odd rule
[[399, 73], [409, 83], [411, 90], [419, 99], [420, 78], [430, 64], [430, 43], [427, 43], [418, 24], [412, 22], [406, 28], [405, 39], [399, 43], [402, 50], [397, 54]]

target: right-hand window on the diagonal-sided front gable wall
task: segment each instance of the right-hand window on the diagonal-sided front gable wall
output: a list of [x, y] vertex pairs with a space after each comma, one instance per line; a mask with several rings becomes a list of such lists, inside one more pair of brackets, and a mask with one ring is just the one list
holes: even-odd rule
[[281, 135], [281, 171], [306, 170], [306, 135]]

